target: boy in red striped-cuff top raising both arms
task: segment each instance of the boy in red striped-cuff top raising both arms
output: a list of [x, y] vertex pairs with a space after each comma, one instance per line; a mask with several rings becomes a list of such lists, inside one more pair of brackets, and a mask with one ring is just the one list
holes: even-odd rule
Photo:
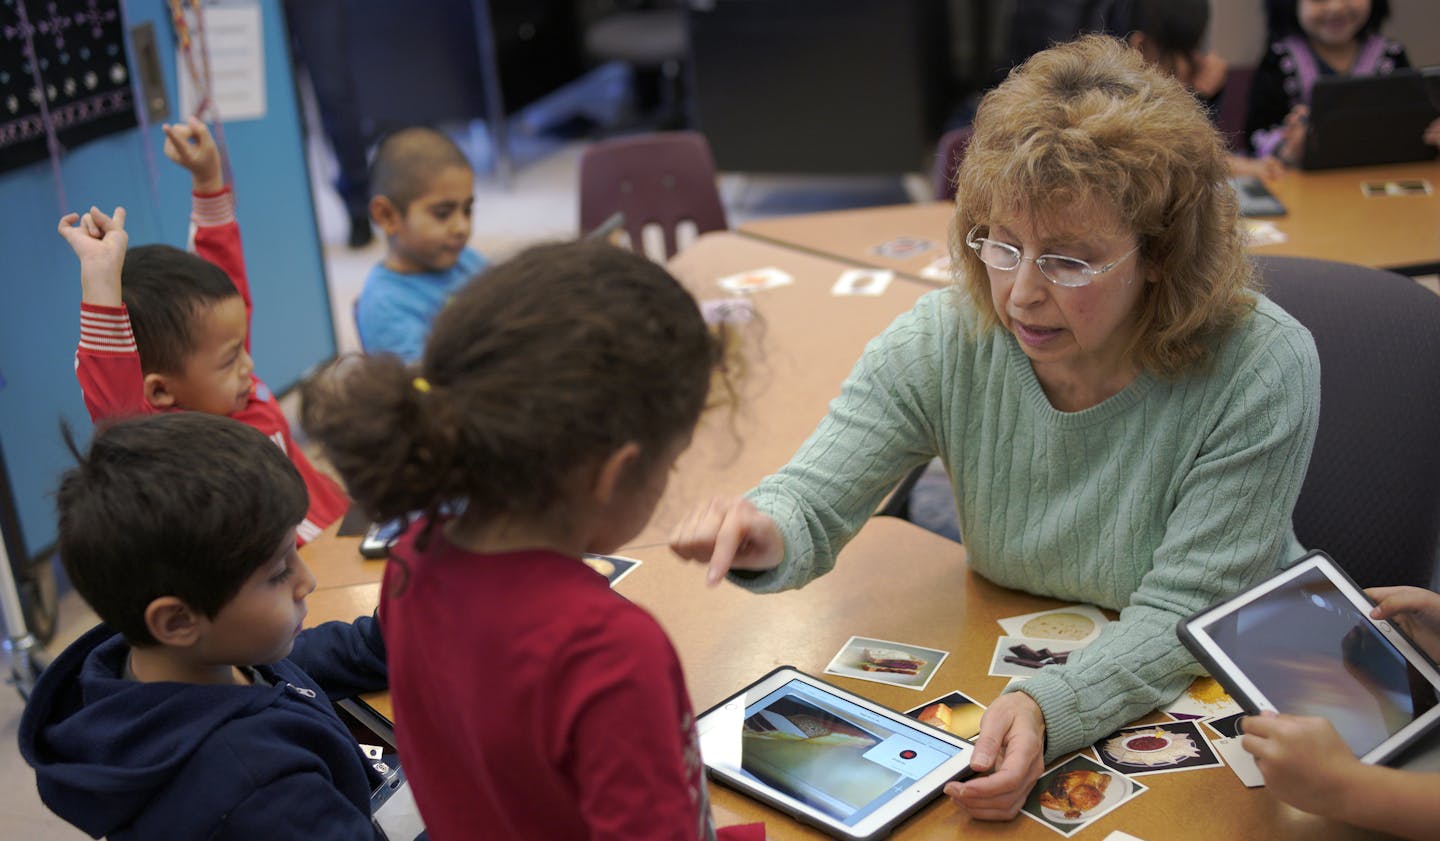
[[60, 219], [81, 259], [81, 341], [75, 374], [92, 420], [190, 409], [226, 415], [264, 432], [305, 481], [305, 543], [348, 508], [315, 471], [251, 359], [251, 289], [220, 153], [199, 120], [166, 125], [166, 156], [190, 171], [196, 253], [168, 245], [125, 249], [125, 212], [91, 207]]

